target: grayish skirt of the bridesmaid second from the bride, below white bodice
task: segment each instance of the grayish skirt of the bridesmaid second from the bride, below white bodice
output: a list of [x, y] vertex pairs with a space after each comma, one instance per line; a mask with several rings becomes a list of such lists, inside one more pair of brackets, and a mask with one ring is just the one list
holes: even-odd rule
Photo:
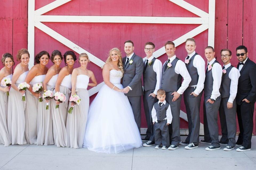
[[57, 147], [65, 147], [67, 146], [67, 131], [65, 127], [65, 122], [71, 91], [65, 86], [60, 86], [59, 91], [66, 95], [66, 101], [60, 103], [59, 108], [56, 109], [56, 101], [54, 99], [51, 99], [51, 108], [53, 109], [53, 138], [54, 145], [57, 145]]

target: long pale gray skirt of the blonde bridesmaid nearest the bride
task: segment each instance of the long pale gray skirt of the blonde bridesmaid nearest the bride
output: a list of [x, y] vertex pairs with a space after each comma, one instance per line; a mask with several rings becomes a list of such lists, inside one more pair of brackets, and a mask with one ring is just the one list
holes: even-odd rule
[[[81, 148], [85, 137], [85, 128], [89, 109], [89, 93], [86, 89], [77, 88], [76, 94], [80, 97], [81, 102], [75, 105], [73, 112], [67, 115], [67, 146], [71, 148]], [[71, 103], [69, 104], [69, 108]], [[97, 134], [94, 134], [97, 135]]]

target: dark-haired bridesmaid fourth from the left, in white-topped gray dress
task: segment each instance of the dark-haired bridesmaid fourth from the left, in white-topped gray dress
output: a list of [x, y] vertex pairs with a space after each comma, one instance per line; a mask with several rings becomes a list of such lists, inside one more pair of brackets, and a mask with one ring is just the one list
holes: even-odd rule
[[[51, 54], [51, 62], [53, 66], [47, 71], [45, 79], [43, 80], [43, 90], [53, 91], [55, 83], [58, 78], [60, 65], [63, 59], [59, 50], [54, 50]], [[52, 119], [52, 100], [43, 100], [38, 103], [38, 115], [37, 115], [37, 145], [53, 145], [53, 119]], [[53, 101], [54, 102], [54, 101]], [[46, 103], [49, 103], [49, 110], [46, 110]], [[55, 108], [54, 108], [55, 109]]]

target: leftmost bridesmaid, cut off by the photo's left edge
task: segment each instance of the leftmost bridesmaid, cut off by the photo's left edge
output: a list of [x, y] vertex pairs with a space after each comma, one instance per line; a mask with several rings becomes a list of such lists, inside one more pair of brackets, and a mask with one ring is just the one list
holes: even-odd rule
[[[12, 67], [15, 64], [13, 56], [5, 53], [2, 56], [3, 68], [0, 70], [0, 80], [4, 78], [12, 78]], [[9, 146], [11, 141], [7, 130], [7, 94], [9, 87], [2, 87], [0, 84], [0, 144]]]

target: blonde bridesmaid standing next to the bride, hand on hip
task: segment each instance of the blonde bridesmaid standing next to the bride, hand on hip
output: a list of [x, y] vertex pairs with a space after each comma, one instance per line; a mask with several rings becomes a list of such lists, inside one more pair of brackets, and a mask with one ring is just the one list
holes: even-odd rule
[[[92, 71], [88, 70], [87, 64], [89, 57], [86, 53], [79, 55], [80, 67], [76, 68], [72, 72], [72, 91], [71, 95], [77, 94], [81, 103], [79, 105], [73, 105], [69, 103], [69, 107], [74, 106], [73, 112], [67, 115], [67, 146], [71, 148], [81, 148], [83, 145], [83, 139], [85, 137], [85, 127], [89, 109], [89, 93], [87, 86], [97, 86], [97, 81]], [[89, 83], [91, 79], [92, 83]]]

